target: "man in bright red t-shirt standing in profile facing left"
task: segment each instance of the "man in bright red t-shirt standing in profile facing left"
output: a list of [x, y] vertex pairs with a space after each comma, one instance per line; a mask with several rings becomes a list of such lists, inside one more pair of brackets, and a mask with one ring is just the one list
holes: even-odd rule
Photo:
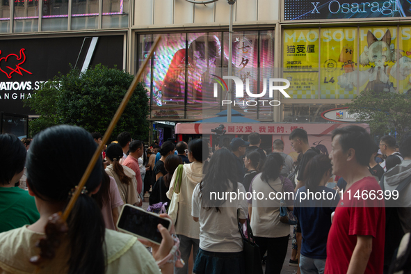
[[382, 273], [385, 207], [381, 188], [368, 170], [372, 144], [362, 127], [332, 131], [332, 172], [343, 177], [347, 186], [339, 193], [328, 234], [324, 273]]

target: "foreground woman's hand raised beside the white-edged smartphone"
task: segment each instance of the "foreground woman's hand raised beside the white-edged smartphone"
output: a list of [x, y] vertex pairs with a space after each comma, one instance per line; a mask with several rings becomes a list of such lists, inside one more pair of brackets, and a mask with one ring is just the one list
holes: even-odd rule
[[[168, 214], [163, 213], [160, 214], [161, 218], [170, 218], [170, 216], [168, 216]], [[157, 225], [157, 228], [159, 229], [159, 232], [161, 233], [161, 236], [163, 237], [163, 239], [161, 240], [161, 244], [155, 244], [152, 243], [150, 241], [144, 240], [144, 239], [138, 239], [138, 241], [140, 241], [141, 243], [143, 243], [143, 245], [147, 245], [152, 247], [152, 252], [153, 252], [153, 257], [156, 261], [160, 261], [161, 259], [163, 259], [164, 257], [166, 257], [169, 253], [170, 250], [172, 248], [172, 246], [174, 245], [174, 240], [172, 239], [171, 234], [175, 233], [175, 229], [174, 229], [174, 225], [171, 225], [171, 229], [170, 232], [166, 229], [166, 227], [163, 227], [163, 225]]]

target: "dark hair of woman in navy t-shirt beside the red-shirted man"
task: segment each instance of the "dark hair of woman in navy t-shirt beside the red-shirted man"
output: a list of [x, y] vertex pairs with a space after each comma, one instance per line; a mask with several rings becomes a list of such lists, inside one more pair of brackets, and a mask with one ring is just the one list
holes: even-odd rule
[[331, 168], [331, 160], [328, 156], [319, 154], [312, 157], [305, 166], [305, 170], [301, 170], [305, 187], [314, 191], [319, 186], [325, 172], [328, 172]]

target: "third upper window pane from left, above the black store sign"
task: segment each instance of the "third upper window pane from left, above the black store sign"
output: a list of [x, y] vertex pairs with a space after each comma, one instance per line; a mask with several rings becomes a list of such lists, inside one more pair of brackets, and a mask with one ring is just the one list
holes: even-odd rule
[[67, 31], [68, 0], [43, 0], [42, 31]]

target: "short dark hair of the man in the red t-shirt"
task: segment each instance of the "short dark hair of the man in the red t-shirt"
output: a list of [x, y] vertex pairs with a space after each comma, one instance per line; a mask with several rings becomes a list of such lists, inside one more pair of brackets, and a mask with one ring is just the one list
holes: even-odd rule
[[334, 140], [334, 137], [337, 135], [340, 136], [339, 144], [344, 152], [352, 148], [355, 150], [355, 159], [357, 159], [357, 162], [360, 163], [361, 166], [369, 166], [369, 159], [371, 158], [371, 154], [373, 154], [371, 145], [373, 139], [369, 133], [366, 132], [366, 129], [355, 125], [334, 129], [331, 140]]

